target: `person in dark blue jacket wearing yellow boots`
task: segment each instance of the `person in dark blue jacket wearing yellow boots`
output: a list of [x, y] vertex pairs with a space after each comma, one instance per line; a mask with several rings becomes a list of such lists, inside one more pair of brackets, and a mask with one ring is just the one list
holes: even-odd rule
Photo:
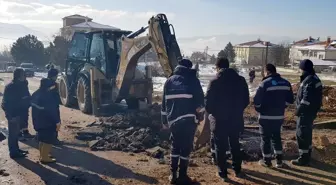
[[54, 97], [53, 90], [56, 83], [43, 78], [40, 88], [32, 96], [32, 118], [34, 129], [39, 140], [40, 161], [52, 163], [56, 159], [51, 157], [52, 145], [56, 142], [56, 132], [60, 129], [59, 103]]

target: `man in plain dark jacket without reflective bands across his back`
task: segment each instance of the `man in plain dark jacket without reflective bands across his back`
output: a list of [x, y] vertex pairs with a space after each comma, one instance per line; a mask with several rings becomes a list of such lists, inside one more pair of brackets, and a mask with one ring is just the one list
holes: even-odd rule
[[249, 104], [249, 91], [245, 79], [229, 68], [226, 58], [216, 62], [218, 74], [206, 93], [205, 109], [210, 114], [213, 132], [218, 175], [227, 181], [226, 151], [231, 147], [232, 167], [237, 176], [241, 174], [242, 156], [239, 136], [244, 130], [244, 109]]

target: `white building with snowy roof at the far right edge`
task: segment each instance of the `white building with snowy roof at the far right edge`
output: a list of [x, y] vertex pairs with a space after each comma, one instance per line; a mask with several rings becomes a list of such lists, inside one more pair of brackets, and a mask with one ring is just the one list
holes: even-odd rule
[[326, 41], [309, 37], [294, 42], [290, 48], [289, 58], [292, 65], [303, 59], [336, 61], [336, 41], [330, 37]]

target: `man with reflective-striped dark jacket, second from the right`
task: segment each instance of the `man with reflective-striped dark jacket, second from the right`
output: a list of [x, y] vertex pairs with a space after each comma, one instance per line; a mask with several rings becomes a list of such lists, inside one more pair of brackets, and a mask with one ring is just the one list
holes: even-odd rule
[[261, 150], [263, 159], [259, 164], [265, 167], [272, 166], [272, 146], [276, 155], [276, 167], [282, 167], [281, 127], [284, 121], [285, 109], [294, 103], [291, 84], [283, 79], [273, 64], [265, 67], [267, 76], [261, 82], [254, 97], [254, 106], [259, 112], [261, 133]]

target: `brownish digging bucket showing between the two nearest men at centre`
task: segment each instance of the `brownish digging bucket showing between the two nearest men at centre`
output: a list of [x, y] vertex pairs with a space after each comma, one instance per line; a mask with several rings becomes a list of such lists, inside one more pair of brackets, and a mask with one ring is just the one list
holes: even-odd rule
[[210, 136], [211, 136], [210, 120], [209, 120], [209, 114], [207, 112], [205, 112], [204, 120], [199, 124], [197, 130], [199, 134], [195, 137], [194, 140], [195, 149], [199, 149], [210, 142]]

